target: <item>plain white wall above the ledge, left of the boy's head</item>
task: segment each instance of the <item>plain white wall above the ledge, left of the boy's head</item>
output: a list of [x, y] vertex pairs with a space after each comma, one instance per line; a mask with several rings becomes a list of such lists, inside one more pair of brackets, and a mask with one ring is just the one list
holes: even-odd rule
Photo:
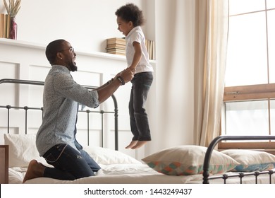
[[[142, 0], [132, 1], [138, 6]], [[48, 44], [64, 38], [75, 50], [106, 52], [106, 38], [124, 37], [115, 11], [127, 0], [23, 0], [16, 16], [18, 40]], [[4, 3], [0, 1], [0, 11]]]

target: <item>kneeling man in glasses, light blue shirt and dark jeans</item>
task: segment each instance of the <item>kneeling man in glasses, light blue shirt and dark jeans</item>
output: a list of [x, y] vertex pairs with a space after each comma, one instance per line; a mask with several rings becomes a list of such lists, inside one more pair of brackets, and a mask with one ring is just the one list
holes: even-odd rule
[[97, 107], [119, 86], [128, 83], [133, 78], [133, 71], [121, 71], [108, 83], [90, 91], [73, 81], [70, 72], [78, 70], [75, 56], [73, 47], [66, 40], [54, 40], [46, 48], [51, 70], [44, 83], [44, 117], [36, 145], [39, 155], [54, 168], [32, 160], [23, 182], [35, 177], [75, 180], [93, 176], [100, 169], [75, 139], [78, 103]]

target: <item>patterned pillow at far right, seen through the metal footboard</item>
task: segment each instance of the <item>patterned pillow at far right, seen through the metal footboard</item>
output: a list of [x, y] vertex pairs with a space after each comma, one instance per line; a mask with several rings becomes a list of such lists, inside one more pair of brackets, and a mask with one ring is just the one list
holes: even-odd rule
[[230, 149], [221, 152], [240, 163], [232, 171], [250, 172], [275, 168], [275, 156], [264, 151]]

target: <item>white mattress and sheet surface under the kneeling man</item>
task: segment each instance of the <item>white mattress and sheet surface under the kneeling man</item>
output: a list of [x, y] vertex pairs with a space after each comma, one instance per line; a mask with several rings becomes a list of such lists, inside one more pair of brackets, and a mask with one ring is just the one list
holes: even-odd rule
[[[202, 175], [171, 176], [157, 173], [145, 164], [114, 164], [101, 165], [94, 177], [84, 177], [78, 180], [56, 180], [47, 177], [38, 177], [27, 180], [26, 184], [202, 184]], [[22, 183], [27, 168], [9, 168], [9, 183]], [[228, 173], [231, 174], [231, 173]], [[236, 174], [236, 173], [232, 173]], [[209, 180], [212, 184], [222, 184], [224, 180]], [[239, 178], [228, 178], [226, 183], [238, 184]], [[254, 176], [245, 176], [245, 184], [255, 184]], [[259, 175], [258, 183], [269, 183], [269, 175]], [[275, 175], [272, 176], [272, 183], [275, 183]]]

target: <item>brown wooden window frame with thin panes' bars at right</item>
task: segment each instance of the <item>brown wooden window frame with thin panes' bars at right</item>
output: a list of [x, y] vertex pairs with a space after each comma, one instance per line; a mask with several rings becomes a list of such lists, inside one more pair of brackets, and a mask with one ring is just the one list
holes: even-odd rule
[[[269, 33], [268, 33], [268, 23], [267, 23], [267, 12], [272, 11], [275, 8], [267, 8], [267, 1], [265, 1], [265, 8], [259, 8], [258, 11], [248, 11], [247, 13], [237, 13], [231, 16], [240, 16], [250, 13], [265, 12], [266, 15], [266, 34], [267, 34], [267, 83], [264, 84], [254, 84], [246, 86], [228, 86], [224, 87], [224, 103], [238, 102], [238, 101], [255, 101], [255, 100], [267, 100], [268, 102], [268, 114], [269, 114], [269, 134], [271, 134], [271, 118], [270, 118], [270, 101], [275, 99], [275, 83], [269, 83]], [[229, 17], [231, 17], [229, 16]], [[229, 22], [230, 23], [230, 22]], [[230, 35], [228, 35], [230, 36]], [[223, 112], [221, 112], [223, 113]], [[222, 117], [222, 116], [221, 116]], [[222, 132], [222, 122], [220, 122], [220, 134]], [[218, 144], [219, 150], [229, 149], [229, 148], [242, 148], [242, 149], [258, 149], [269, 151], [275, 154], [275, 141], [221, 141]]]

